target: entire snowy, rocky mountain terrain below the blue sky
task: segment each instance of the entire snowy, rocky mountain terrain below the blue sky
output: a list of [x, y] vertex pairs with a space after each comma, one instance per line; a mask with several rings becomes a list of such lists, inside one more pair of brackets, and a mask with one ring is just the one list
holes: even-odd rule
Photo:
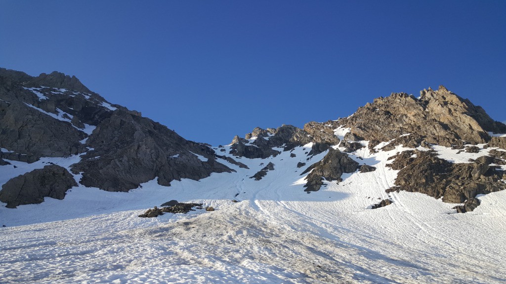
[[502, 133], [440, 86], [212, 147], [0, 69], [0, 282], [503, 282]]

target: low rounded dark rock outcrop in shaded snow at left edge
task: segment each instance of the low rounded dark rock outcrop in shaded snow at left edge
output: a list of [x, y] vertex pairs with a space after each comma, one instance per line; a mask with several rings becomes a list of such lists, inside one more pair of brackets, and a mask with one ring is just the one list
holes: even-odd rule
[[74, 177], [58, 165], [45, 166], [12, 178], [2, 186], [0, 201], [8, 208], [18, 205], [41, 203], [45, 197], [63, 199], [65, 193], [77, 183]]

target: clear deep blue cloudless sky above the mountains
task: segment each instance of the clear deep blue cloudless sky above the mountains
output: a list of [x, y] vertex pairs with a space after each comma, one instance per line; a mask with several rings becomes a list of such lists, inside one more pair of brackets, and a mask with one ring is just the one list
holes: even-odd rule
[[506, 1], [7, 1], [0, 67], [75, 75], [187, 139], [443, 84], [506, 120]]

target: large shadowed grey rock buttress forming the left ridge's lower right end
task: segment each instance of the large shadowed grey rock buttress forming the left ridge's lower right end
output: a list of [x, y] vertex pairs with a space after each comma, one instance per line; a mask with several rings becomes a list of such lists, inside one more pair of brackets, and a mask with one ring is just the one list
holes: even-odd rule
[[95, 150], [72, 165], [72, 172], [83, 172], [81, 184], [106, 191], [127, 192], [155, 177], [158, 184], [170, 186], [172, 180], [198, 180], [212, 172], [232, 171], [215, 161], [209, 147], [121, 110], [99, 123], [87, 145]]

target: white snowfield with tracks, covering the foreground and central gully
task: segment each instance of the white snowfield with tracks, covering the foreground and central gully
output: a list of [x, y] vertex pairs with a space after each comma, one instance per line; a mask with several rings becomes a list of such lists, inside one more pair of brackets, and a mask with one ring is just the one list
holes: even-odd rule
[[[336, 134], [344, 135], [343, 130]], [[171, 187], [155, 180], [130, 193], [80, 186], [61, 201], [0, 207], [0, 224], [8, 226], [0, 228], [0, 282], [506, 281], [506, 191], [479, 197], [482, 204], [465, 214], [423, 194], [387, 194], [398, 172], [385, 167], [387, 158], [406, 150], [397, 147], [376, 154], [360, 149], [356, 155], [363, 160], [350, 156], [376, 171], [344, 174], [342, 182], [325, 182], [307, 194], [300, 173], [325, 156], [307, 160], [309, 148], [296, 148], [294, 158], [290, 152], [267, 159], [233, 157], [249, 169], [218, 159], [237, 172], [173, 181]], [[217, 153], [230, 156], [225, 149]], [[456, 152], [435, 150], [443, 158]], [[453, 162], [486, 152], [460, 153]], [[51, 162], [68, 168], [79, 157], [58, 159]], [[0, 184], [49, 161], [9, 161], [18, 168], [0, 166]], [[269, 162], [274, 170], [260, 181], [249, 178]], [[306, 166], [297, 168], [298, 162]], [[369, 209], [387, 198], [394, 203]], [[216, 211], [137, 217], [171, 199]]]

